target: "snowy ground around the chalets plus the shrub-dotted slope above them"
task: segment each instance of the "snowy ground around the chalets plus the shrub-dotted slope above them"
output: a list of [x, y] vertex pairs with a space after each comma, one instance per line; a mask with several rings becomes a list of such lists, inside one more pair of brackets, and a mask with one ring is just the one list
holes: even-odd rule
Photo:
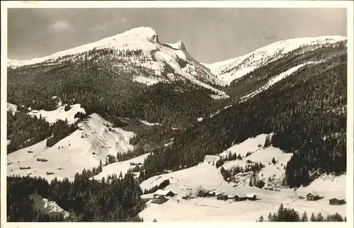
[[[268, 179], [268, 176], [282, 178], [284, 169], [282, 167], [292, 156], [291, 154], [283, 153], [278, 148], [272, 146], [268, 148], [259, 148], [258, 145], [263, 145], [266, 134], [249, 138], [243, 143], [234, 145], [229, 150], [226, 150], [221, 155], [227, 155], [229, 151], [236, 152], [237, 155], [244, 156], [246, 152], [253, 152], [243, 160], [226, 162], [223, 167], [229, 169], [234, 165], [244, 166], [246, 160], [252, 162], [262, 162], [265, 168], [261, 170], [259, 175], [263, 174], [263, 179]], [[272, 158], [278, 160], [276, 164], [270, 163]], [[279, 169], [278, 169], [279, 168]], [[282, 188], [280, 191], [270, 191], [261, 188], [251, 187], [244, 179], [244, 183], [236, 184], [234, 182], [227, 183], [220, 174], [220, 169], [212, 164], [201, 163], [198, 166], [182, 169], [177, 172], [161, 174], [153, 176], [146, 181], [143, 181], [140, 186], [142, 189], [149, 189], [161, 184], [162, 181], [169, 179], [170, 185], [164, 188], [168, 191], [173, 191], [176, 196], [167, 197], [169, 200], [163, 204], [147, 202], [147, 208], [139, 213], [144, 218], [144, 221], [151, 222], [156, 219], [158, 222], [188, 222], [188, 221], [256, 221], [261, 215], [267, 217], [269, 212], [276, 212], [282, 203], [287, 208], [295, 210], [307, 215], [312, 212], [315, 215], [321, 212], [322, 215], [334, 214], [335, 212], [346, 216], [346, 205], [329, 205], [329, 199], [346, 198], [346, 175], [342, 176], [324, 176], [306, 188], [293, 189]], [[182, 199], [188, 193], [195, 196], [198, 188], [205, 188], [209, 191], [219, 193], [254, 193], [258, 200], [234, 202], [232, 200], [217, 200], [216, 197], [211, 198], [191, 198], [189, 200]], [[317, 201], [307, 201], [297, 198], [300, 195], [306, 195], [310, 191], [317, 191], [324, 198]], [[143, 195], [142, 198], [151, 198], [152, 194]]]

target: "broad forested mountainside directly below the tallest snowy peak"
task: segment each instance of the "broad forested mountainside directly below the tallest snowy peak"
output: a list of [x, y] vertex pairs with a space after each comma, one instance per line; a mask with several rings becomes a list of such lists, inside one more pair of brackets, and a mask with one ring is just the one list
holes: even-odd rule
[[[139, 118], [150, 122], [189, 126], [195, 118], [214, 112], [213, 100], [205, 88], [176, 81], [151, 86], [136, 83], [134, 76], [153, 75], [139, 66], [113, 67], [115, 61], [101, 51], [99, 61], [64, 61], [8, 69], [8, 102], [32, 109], [53, 110], [58, 96], [62, 103], [81, 104], [86, 114], [96, 112], [120, 126], [117, 117]], [[102, 56], [103, 55], [103, 56]], [[117, 64], [117, 63], [115, 63]]]

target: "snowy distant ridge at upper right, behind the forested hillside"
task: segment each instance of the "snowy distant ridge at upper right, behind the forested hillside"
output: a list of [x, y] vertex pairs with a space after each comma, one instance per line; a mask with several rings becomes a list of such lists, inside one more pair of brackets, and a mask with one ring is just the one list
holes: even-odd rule
[[264, 66], [271, 61], [281, 59], [296, 49], [299, 49], [299, 54], [301, 54], [302, 52], [326, 47], [346, 39], [346, 37], [341, 36], [321, 36], [282, 40], [256, 49], [256, 51], [244, 56], [204, 65], [210, 68], [212, 74], [223, 80], [224, 83], [229, 84], [256, 68]]

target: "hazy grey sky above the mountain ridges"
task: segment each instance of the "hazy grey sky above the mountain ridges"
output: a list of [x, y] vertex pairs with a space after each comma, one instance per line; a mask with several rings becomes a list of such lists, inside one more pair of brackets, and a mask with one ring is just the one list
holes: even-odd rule
[[296, 37], [347, 36], [345, 8], [9, 8], [8, 59], [47, 56], [149, 26], [212, 63]]

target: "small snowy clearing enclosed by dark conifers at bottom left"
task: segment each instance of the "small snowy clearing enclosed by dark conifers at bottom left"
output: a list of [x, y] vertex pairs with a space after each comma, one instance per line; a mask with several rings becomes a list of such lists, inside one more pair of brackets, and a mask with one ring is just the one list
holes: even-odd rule
[[63, 215], [64, 218], [69, 217], [69, 212], [60, 208], [55, 201], [42, 198], [36, 193], [30, 195], [30, 200], [33, 200], [33, 208], [40, 210], [45, 215], [50, 217], [56, 217], [57, 215]]

